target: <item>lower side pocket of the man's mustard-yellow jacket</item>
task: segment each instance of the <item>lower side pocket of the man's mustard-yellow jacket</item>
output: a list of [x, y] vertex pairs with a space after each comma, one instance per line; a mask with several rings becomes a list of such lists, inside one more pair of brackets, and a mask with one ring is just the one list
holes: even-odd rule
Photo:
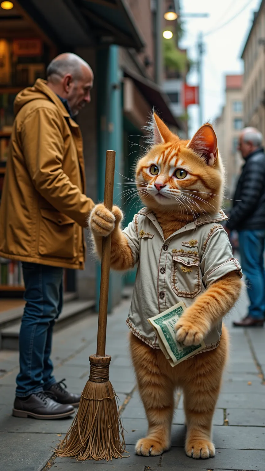
[[41, 209], [39, 253], [50, 257], [76, 257], [75, 221], [58, 211]]

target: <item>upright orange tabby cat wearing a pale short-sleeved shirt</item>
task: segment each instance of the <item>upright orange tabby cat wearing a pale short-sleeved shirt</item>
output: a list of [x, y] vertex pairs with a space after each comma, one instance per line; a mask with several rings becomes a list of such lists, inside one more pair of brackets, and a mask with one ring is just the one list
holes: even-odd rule
[[[170, 447], [174, 390], [184, 395], [185, 451], [193, 458], [215, 455], [211, 429], [228, 335], [222, 318], [240, 294], [241, 269], [220, 221], [223, 168], [215, 132], [202, 126], [183, 141], [156, 114], [152, 145], [136, 168], [136, 185], [146, 208], [123, 231], [121, 210], [98, 204], [90, 227], [97, 251], [112, 233], [111, 267], [127, 270], [138, 263], [132, 305], [132, 361], [148, 418], [147, 436], [138, 455], [160, 455]], [[174, 367], [157, 345], [148, 317], [183, 300], [187, 309], [176, 324], [184, 345], [205, 341], [205, 349]]]

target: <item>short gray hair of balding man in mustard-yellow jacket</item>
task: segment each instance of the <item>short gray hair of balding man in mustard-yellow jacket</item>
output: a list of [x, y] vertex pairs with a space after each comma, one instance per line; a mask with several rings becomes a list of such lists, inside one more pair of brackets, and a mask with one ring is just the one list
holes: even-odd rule
[[82, 65], [90, 66], [81, 57], [67, 52], [55, 57], [47, 67], [47, 78], [50, 81], [59, 80], [58, 77], [64, 77], [66, 73], [70, 73], [73, 80], [82, 78]]

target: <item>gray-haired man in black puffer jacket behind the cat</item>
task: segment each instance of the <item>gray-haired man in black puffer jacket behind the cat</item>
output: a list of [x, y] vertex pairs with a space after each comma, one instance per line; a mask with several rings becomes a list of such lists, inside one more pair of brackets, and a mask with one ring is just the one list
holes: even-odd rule
[[262, 134], [245, 128], [240, 134], [242, 168], [227, 229], [237, 230], [241, 266], [247, 279], [250, 306], [248, 315], [236, 327], [263, 326], [265, 316], [265, 154]]

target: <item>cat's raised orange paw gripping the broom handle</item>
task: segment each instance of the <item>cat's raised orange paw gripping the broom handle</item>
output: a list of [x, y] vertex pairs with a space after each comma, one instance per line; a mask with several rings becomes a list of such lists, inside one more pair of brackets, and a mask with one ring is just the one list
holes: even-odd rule
[[106, 237], [113, 231], [115, 220], [115, 215], [104, 204], [97, 204], [91, 211], [89, 225], [95, 235]]

